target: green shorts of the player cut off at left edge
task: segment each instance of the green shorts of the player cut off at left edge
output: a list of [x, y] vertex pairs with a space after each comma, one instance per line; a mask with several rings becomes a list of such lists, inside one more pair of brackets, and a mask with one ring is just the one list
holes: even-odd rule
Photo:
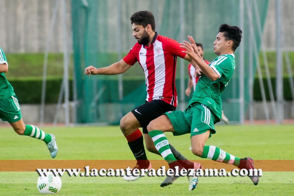
[[0, 99], [0, 118], [14, 123], [21, 119], [20, 107], [16, 96]]

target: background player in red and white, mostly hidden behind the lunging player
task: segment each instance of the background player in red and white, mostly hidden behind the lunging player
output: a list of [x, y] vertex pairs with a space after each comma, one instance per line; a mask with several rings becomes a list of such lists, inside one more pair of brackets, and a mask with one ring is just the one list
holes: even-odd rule
[[[203, 58], [203, 55], [204, 55], [204, 50], [203, 50], [203, 45], [202, 43], [195, 43], [196, 44], [196, 47], [197, 47], [197, 51], [198, 53], [200, 54], [200, 56]], [[206, 61], [204, 58], [203, 58], [204, 62], [206, 64], [209, 65], [210, 62]], [[186, 96], [190, 96], [190, 93], [191, 93], [191, 87], [193, 86], [193, 91], [195, 91], [195, 88], [196, 88], [196, 84], [198, 82], [198, 79], [199, 79], [199, 76], [198, 77], [194, 77], [195, 75], [195, 67], [192, 66], [191, 63], [189, 63], [188, 65], [188, 73], [189, 73], [189, 79], [188, 79], [188, 86], [186, 88]], [[221, 118], [220, 120], [222, 120], [226, 125], [229, 124], [229, 120], [228, 118], [225, 116], [223, 110], [221, 111]], [[190, 149], [191, 150], [191, 149]]]

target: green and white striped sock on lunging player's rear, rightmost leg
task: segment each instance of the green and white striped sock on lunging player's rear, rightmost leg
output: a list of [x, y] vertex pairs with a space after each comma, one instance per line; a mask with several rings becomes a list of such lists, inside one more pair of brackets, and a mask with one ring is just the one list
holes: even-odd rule
[[221, 163], [239, 166], [240, 159], [215, 146], [204, 146], [201, 158], [212, 159]]

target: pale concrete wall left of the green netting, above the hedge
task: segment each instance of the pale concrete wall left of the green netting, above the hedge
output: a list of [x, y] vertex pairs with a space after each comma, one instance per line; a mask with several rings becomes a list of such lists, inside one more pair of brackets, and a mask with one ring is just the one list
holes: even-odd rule
[[[0, 45], [5, 53], [44, 52], [55, 3], [54, 0], [0, 0]], [[66, 7], [67, 28], [71, 35], [71, 0], [66, 0]], [[50, 51], [63, 51], [61, 3]]]

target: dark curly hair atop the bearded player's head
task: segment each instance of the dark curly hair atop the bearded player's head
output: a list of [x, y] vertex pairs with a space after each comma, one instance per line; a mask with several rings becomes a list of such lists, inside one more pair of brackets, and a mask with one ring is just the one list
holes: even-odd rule
[[150, 24], [152, 31], [155, 31], [155, 19], [150, 11], [138, 11], [131, 16], [131, 24], [142, 25], [144, 28]]

